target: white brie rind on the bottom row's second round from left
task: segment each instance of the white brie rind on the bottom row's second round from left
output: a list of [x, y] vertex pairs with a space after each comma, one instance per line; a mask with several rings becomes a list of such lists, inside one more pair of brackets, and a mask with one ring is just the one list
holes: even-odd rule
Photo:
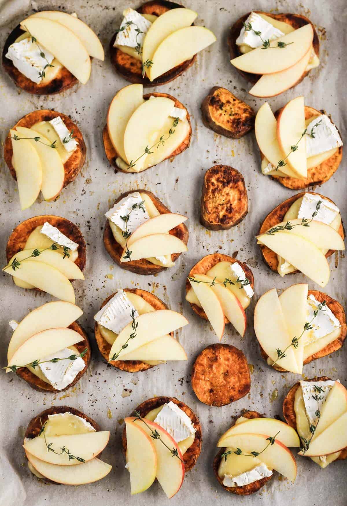
[[172, 401], [164, 404], [155, 417], [154, 423], [168, 432], [176, 443], [184, 441], [196, 432], [189, 416]]

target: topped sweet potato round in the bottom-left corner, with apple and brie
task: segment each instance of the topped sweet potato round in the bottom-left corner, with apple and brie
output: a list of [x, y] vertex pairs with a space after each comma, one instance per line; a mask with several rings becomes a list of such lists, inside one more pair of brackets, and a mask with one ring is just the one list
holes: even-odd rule
[[32, 418], [23, 448], [29, 470], [41, 480], [84, 485], [105, 478], [112, 466], [100, 460], [110, 437], [81, 411], [52, 406]]

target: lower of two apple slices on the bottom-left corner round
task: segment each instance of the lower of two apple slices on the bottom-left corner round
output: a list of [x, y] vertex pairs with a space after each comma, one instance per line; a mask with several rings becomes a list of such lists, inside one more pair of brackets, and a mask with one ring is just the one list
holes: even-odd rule
[[62, 483], [63, 485], [93, 483], [105, 478], [112, 469], [112, 466], [106, 462], [103, 462], [99, 458], [93, 458], [74, 467], [73, 473], [71, 473], [70, 466], [56, 466], [55, 464], [44, 462], [29, 452], [26, 452], [26, 456], [38, 473], [55, 483]]

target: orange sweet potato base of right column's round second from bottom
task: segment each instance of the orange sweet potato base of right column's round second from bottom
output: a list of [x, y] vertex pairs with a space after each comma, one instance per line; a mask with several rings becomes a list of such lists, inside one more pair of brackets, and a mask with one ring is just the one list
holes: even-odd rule
[[[314, 353], [313, 355], [310, 355], [310, 357], [307, 357], [307, 359], [303, 362], [303, 365], [309, 364], [313, 360], [317, 360], [322, 357], [326, 357], [327, 355], [330, 355], [331, 353], [334, 353], [334, 351], [338, 351], [340, 348], [342, 348], [343, 343], [346, 339], [347, 335], [347, 326], [346, 326], [346, 315], [344, 312], [343, 307], [341, 304], [332, 297], [329, 297], [326, 293], [323, 293], [322, 291], [318, 290], [309, 290], [308, 291], [309, 296], [313, 295], [315, 299], [318, 302], [325, 301], [326, 305], [330, 309], [330, 311], [334, 314], [334, 316], [338, 319], [338, 321], [341, 324], [341, 331], [340, 335], [338, 336], [335, 341], [330, 343], [329, 345], [325, 346], [322, 350], [320, 350], [317, 353]], [[261, 349], [262, 357], [264, 360], [268, 359], [267, 353], [263, 350], [263, 348], [259, 345], [259, 348]], [[274, 366], [274, 369], [281, 371], [281, 372], [288, 372], [287, 370], [283, 369], [282, 367], [279, 367], [277, 365]]]

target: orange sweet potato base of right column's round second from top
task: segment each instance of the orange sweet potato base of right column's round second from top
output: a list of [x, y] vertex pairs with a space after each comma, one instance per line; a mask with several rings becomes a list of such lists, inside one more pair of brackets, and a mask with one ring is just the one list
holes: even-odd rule
[[[282, 109], [278, 109], [275, 112], [276, 119], [278, 118]], [[305, 106], [305, 117], [306, 119], [312, 118], [314, 116], [320, 116], [321, 114], [325, 114], [324, 110], [318, 111], [313, 107]], [[261, 153], [262, 159], [264, 158]], [[340, 146], [337, 151], [330, 156], [327, 160], [323, 161], [320, 165], [316, 167], [308, 168], [307, 170], [307, 178], [306, 179], [297, 179], [290, 178], [289, 176], [282, 178], [279, 176], [270, 176], [275, 181], [281, 183], [281, 185], [286, 188], [290, 188], [291, 190], [303, 190], [311, 185], [322, 185], [328, 179], [331, 178], [337, 171], [342, 160], [342, 146]]]

